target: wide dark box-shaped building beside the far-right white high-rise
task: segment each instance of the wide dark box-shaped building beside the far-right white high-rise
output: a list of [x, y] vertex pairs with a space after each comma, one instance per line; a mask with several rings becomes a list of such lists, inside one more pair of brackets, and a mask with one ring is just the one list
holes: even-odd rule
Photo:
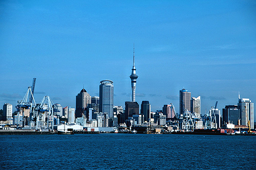
[[223, 125], [228, 122], [238, 125], [239, 120], [239, 109], [238, 105], [227, 105], [222, 109]]

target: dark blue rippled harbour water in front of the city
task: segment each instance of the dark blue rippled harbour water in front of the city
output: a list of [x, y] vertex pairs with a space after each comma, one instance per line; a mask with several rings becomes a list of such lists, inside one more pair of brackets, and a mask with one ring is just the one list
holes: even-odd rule
[[2, 135], [0, 169], [255, 169], [256, 136]]

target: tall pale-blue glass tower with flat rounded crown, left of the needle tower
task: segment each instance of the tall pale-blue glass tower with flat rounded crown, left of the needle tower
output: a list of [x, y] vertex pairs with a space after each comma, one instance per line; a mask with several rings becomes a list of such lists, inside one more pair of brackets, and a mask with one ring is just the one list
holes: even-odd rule
[[102, 80], [99, 85], [99, 112], [113, 117], [114, 85], [111, 80]]

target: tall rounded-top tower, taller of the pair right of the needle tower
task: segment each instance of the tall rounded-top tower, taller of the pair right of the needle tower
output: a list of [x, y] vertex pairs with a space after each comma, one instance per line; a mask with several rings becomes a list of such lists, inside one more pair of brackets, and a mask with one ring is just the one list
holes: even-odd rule
[[191, 92], [188, 92], [186, 89], [180, 90], [180, 114], [182, 114], [186, 109], [190, 111], [190, 100]]

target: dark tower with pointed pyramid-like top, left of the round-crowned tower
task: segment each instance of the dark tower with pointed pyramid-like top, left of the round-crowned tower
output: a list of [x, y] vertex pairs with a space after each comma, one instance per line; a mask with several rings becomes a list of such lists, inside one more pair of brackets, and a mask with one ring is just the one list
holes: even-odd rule
[[83, 88], [80, 93], [76, 95], [76, 118], [86, 114], [88, 104], [91, 104], [91, 95]]

